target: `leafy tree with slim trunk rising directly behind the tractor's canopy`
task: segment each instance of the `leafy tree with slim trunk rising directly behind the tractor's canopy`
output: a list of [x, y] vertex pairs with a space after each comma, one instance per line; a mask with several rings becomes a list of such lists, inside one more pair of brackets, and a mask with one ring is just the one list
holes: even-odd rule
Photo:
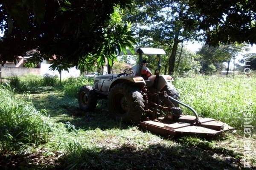
[[135, 0], [126, 20], [136, 27], [140, 46], [164, 48], [169, 54], [168, 74], [175, 71], [177, 48], [181, 42], [197, 37], [195, 15], [188, 11], [188, 0]]

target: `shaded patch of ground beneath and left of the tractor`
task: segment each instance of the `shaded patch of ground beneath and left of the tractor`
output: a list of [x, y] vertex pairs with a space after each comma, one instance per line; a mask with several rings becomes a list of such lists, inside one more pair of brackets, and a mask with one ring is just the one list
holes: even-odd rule
[[70, 122], [76, 129], [101, 130], [122, 128], [126, 129], [132, 124], [125, 124], [111, 119], [108, 113], [107, 102], [99, 100], [93, 112], [85, 112], [79, 108], [77, 98], [70, 96], [48, 95], [45, 97], [34, 97], [32, 102], [37, 110], [46, 109], [47, 115], [55, 122]]

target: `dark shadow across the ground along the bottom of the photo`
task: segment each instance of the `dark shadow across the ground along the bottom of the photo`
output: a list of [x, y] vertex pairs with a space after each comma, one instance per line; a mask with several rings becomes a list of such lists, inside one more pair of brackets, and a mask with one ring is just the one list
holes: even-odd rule
[[[38, 155], [37, 155], [38, 156]], [[188, 147], [181, 144], [164, 146], [150, 144], [145, 148], [125, 144], [120, 148], [93, 148], [74, 151], [72, 154], [41, 157], [44, 164], [38, 163], [35, 156], [12, 161], [7, 159], [5, 167], [14, 169], [74, 169], [74, 170], [241, 170], [240, 155], [232, 150], [212, 150], [210, 147]], [[48, 160], [48, 163], [47, 161]], [[49, 161], [55, 160], [55, 161]], [[16, 164], [14, 164], [16, 162]], [[3, 166], [3, 165], [2, 165]], [[18, 167], [17, 167], [18, 166]], [[1, 167], [1, 166], [0, 166]], [[43, 168], [42, 168], [43, 167]], [[251, 169], [256, 167], [251, 167]]]

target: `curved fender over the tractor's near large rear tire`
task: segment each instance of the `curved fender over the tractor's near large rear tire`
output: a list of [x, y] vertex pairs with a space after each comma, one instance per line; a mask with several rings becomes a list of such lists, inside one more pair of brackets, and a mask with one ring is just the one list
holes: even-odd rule
[[143, 87], [145, 87], [145, 80], [140, 76], [124, 76], [124, 77], [117, 77], [111, 82], [111, 85], [108, 88], [108, 91], [113, 87], [113, 85], [116, 85], [118, 83], [125, 83], [125, 84], [131, 84], [132, 86], [138, 88], [141, 90]]

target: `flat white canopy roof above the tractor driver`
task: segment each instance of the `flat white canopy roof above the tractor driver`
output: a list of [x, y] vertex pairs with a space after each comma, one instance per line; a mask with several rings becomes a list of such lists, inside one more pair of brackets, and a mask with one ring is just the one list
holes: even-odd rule
[[[142, 55], [154, 55], [154, 54], [160, 54], [165, 55], [166, 52], [161, 48], [134, 48], [134, 53], [132, 53], [130, 50], [126, 50], [127, 55], [139, 55], [139, 51], [142, 51]], [[125, 54], [123, 51], [120, 53], [120, 55]]]

